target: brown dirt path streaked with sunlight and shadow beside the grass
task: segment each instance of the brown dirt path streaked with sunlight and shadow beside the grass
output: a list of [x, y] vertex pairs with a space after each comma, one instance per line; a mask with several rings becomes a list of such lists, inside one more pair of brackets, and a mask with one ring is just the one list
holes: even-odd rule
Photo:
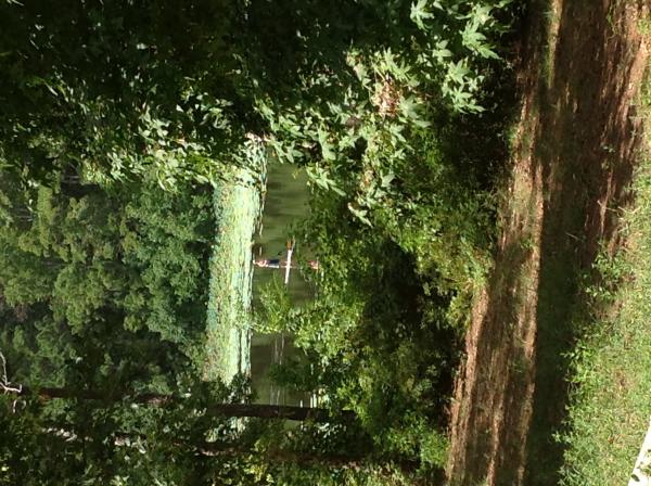
[[557, 484], [571, 317], [600, 244], [620, 244], [642, 140], [635, 102], [651, 3], [531, 3], [502, 233], [450, 409], [451, 485]]

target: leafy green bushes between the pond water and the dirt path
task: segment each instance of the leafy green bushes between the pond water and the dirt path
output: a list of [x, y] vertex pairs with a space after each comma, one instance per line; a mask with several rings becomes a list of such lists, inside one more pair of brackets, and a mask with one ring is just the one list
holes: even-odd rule
[[[481, 34], [502, 24], [488, 8], [438, 7], [397, 15], [412, 25], [395, 44], [347, 51], [328, 103], [315, 102], [323, 77], [294, 108], [269, 112], [276, 154], [307, 164], [302, 240], [322, 270], [312, 304], [296, 307], [276, 286], [259, 316], [261, 329], [292, 332], [304, 351], [276, 370], [278, 382], [355, 410], [372, 457], [409, 463], [427, 482], [445, 463], [452, 371], [489, 264], [492, 180], [506, 149], [486, 133], [501, 133], [508, 113], [494, 104], [503, 93], [480, 90], [483, 76], [503, 80]], [[485, 49], [463, 36], [441, 40], [443, 53], [429, 43], [451, 18]]]

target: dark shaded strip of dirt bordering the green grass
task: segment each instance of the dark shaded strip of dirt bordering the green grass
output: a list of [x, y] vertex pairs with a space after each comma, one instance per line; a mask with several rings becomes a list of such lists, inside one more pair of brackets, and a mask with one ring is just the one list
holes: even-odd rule
[[567, 405], [569, 353], [584, 310], [582, 282], [601, 247], [620, 244], [618, 210], [641, 143], [630, 82], [640, 39], [627, 20], [641, 4], [563, 2], [549, 85], [540, 86], [534, 151], [545, 209], [538, 281], [536, 373], [526, 484], [557, 484], [563, 448], [553, 438]]

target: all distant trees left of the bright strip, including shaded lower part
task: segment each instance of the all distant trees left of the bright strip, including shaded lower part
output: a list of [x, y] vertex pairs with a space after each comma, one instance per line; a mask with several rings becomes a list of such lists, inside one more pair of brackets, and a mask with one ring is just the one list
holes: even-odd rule
[[[1, 176], [2, 384], [63, 395], [2, 400], [2, 484], [110, 484], [120, 475], [183, 483], [200, 474], [193, 455], [183, 459], [161, 437], [165, 427], [177, 438], [197, 434], [183, 412], [190, 405], [153, 411], [132, 401], [199, 386], [192, 359], [215, 232], [210, 188], [164, 192], [142, 181], [103, 190], [71, 172], [50, 174], [46, 187]], [[219, 396], [206, 393], [190, 396]], [[170, 453], [177, 466], [164, 465]]]

